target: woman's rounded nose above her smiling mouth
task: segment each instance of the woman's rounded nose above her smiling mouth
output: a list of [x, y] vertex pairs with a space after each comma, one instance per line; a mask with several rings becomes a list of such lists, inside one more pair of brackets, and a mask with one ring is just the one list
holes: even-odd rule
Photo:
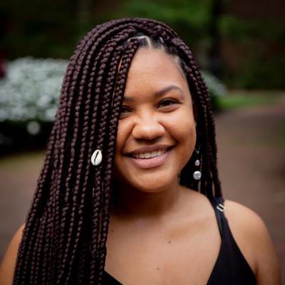
[[152, 115], [145, 115], [144, 118], [139, 118], [133, 128], [133, 138], [153, 140], [159, 138], [165, 133], [165, 128]]

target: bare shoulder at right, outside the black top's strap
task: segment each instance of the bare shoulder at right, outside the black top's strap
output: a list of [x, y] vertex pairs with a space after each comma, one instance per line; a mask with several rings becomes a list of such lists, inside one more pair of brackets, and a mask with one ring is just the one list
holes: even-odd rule
[[279, 261], [268, 229], [259, 215], [237, 202], [224, 202], [235, 241], [257, 276], [257, 284], [281, 284]]

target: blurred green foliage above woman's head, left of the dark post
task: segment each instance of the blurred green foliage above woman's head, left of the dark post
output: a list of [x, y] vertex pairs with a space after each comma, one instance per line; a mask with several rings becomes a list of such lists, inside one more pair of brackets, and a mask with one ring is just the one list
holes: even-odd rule
[[[0, 41], [9, 59], [22, 56], [68, 58], [77, 41], [93, 26], [122, 17], [148, 17], [172, 26], [191, 46], [209, 45], [209, 13], [212, 0], [118, 1], [116, 9], [97, 13], [94, 1], [26, 0], [0, 6], [9, 32]], [[102, 2], [102, 1], [99, 1]], [[112, 1], [109, 1], [112, 2]]]

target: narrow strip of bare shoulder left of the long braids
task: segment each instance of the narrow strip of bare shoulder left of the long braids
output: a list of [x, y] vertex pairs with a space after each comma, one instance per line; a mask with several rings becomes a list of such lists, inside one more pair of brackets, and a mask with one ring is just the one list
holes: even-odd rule
[[14, 237], [11, 239], [8, 248], [4, 254], [4, 258], [0, 265], [0, 284], [10, 285], [13, 281], [14, 269], [16, 265], [16, 258], [18, 253], [19, 244], [21, 242], [22, 232], [25, 224], [16, 231]]

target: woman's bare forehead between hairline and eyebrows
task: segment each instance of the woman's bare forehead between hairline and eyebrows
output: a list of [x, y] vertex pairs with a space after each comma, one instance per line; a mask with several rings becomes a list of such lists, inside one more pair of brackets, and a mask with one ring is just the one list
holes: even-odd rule
[[188, 89], [175, 59], [160, 49], [140, 48], [130, 65], [125, 94], [134, 95], [140, 91], [155, 93], [170, 84]]

